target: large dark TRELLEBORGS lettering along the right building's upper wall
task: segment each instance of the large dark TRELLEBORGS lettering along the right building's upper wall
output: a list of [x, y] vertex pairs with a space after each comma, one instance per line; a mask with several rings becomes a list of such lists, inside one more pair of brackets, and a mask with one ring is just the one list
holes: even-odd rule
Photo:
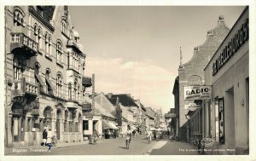
[[231, 38], [230, 42], [224, 47], [218, 55], [218, 59], [212, 65], [212, 76], [214, 76], [224, 64], [236, 53], [241, 45], [249, 39], [248, 19], [241, 25], [241, 28]]

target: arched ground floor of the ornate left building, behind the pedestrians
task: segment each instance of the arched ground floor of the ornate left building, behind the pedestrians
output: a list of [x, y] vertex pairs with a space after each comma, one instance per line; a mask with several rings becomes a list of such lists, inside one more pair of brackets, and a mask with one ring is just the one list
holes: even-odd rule
[[6, 113], [7, 147], [38, 145], [44, 129], [48, 130], [48, 137], [55, 136], [60, 142], [83, 140], [81, 108], [66, 107], [65, 102], [19, 96]]

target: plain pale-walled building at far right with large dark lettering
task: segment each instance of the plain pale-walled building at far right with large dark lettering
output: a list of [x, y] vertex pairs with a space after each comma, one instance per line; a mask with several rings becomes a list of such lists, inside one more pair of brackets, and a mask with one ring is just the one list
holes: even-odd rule
[[249, 153], [248, 16], [247, 7], [205, 67], [212, 100], [203, 103], [203, 136], [218, 149], [235, 149], [218, 154]]

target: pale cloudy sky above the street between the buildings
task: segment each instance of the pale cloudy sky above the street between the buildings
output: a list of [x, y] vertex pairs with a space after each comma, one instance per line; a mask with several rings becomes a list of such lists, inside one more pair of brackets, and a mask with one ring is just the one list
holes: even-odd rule
[[[131, 94], [143, 106], [170, 111], [183, 63], [224, 15], [232, 27], [244, 6], [72, 6], [72, 24], [86, 54], [96, 92]], [[91, 89], [89, 89], [91, 90]]]

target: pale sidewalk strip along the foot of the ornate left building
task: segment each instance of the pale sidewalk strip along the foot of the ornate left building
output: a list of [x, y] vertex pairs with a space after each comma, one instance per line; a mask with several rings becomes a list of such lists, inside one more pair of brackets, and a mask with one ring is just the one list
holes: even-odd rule
[[[101, 140], [98, 140], [98, 142], [102, 142]], [[82, 141], [82, 142], [60, 142], [57, 143], [56, 147], [52, 147], [52, 148], [61, 148], [61, 147], [72, 147], [72, 146], [79, 146], [79, 145], [85, 145], [85, 144], [89, 144], [89, 141]], [[4, 147], [4, 154], [8, 155], [8, 154], [12, 154], [12, 153], [16, 153], [17, 151], [25, 151], [27, 149], [48, 149], [48, 147], [43, 147], [40, 145], [36, 145], [36, 146], [22, 146], [22, 147]]]

